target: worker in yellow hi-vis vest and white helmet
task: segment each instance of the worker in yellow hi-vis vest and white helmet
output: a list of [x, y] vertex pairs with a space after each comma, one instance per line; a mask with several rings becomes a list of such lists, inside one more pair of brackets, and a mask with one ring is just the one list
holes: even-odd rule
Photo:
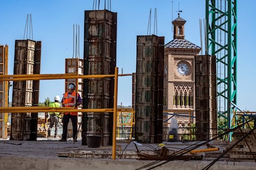
[[[59, 100], [61, 97], [59, 95], [56, 95], [54, 97], [54, 102], [49, 103], [49, 107], [61, 107], [61, 103], [59, 103]], [[49, 124], [48, 128], [48, 136], [51, 136], [51, 128], [53, 127], [53, 124], [55, 126], [55, 132], [54, 132], [54, 138], [58, 134], [59, 129], [59, 112], [49, 112], [51, 123]]]

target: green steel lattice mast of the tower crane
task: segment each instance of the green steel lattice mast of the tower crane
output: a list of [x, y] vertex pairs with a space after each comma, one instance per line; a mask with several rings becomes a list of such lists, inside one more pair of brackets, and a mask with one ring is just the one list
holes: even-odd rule
[[[236, 0], [206, 0], [207, 50], [216, 56], [218, 130], [231, 127], [237, 100]], [[231, 139], [231, 138], [229, 138]]]

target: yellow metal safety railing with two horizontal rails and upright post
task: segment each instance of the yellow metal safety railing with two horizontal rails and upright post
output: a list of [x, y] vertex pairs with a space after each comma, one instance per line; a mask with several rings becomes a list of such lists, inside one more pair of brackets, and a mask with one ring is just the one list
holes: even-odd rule
[[115, 68], [114, 75], [77, 75], [68, 74], [35, 74], [35, 75], [0, 75], [1, 81], [25, 81], [42, 79], [69, 79], [69, 78], [109, 78], [114, 77], [114, 108], [93, 108], [93, 109], [75, 109], [75, 108], [50, 108], [50, 107], [0, 107], [3, 113], [22, 113], [22, 112], [113, 112], [113, 153], [112, 159], [116, 159], [116, 117], [117, 117], [117, 79], [118, 76], [131, 76], [132, 74], [118, 75], [118, 68]]

